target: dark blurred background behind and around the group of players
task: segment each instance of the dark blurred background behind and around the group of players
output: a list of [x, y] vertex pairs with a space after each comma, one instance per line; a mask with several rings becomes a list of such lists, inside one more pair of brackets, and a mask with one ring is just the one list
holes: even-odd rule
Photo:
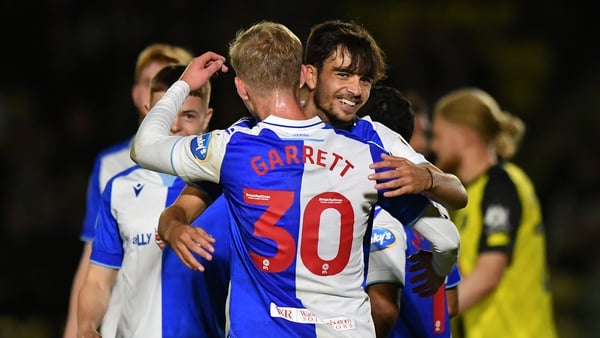
[[[0, 337], [58, 337], [82, 243], [96, 153], [137, 128], [137, 53], [168, 42], [223, 55], [260, 20], [305, 40], [327, 19], [363, 24], [387, 54], [385, 84], [433, 105], [490, 92], [527, 133], [548, 236], [561, 337], [600, 334], [600, 48], [593, 2], [16, 1], [0, 4]], [[245, 114], [233, 74], [213, 82], [212, 128]]]

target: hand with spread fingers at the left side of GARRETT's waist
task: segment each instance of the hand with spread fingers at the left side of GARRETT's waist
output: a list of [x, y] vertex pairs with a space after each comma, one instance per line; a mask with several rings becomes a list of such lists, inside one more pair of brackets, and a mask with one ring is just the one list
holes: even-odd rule
[[168, 244], [183, 264], [192, 270], [204, 271], [204, 266], [192, 252], [210, 261], [215, 252], [214, 243], [215, 239], [201, 227], [180, 223], [169, 229]]

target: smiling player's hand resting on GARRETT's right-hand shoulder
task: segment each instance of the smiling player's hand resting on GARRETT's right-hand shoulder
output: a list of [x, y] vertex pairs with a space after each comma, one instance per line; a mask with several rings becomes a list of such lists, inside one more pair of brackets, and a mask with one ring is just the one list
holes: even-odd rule
[[382, 161], [372, 163], [369, 168], [392, 168], [392, 170], [369, 175], [369, 179], [378, 181], [375, 189], [390, 190], [384, 192], [384, 196], [418, 194], [431, 187], [431, 175], [423, 166], [416, 165], [404, 157], [383, 154], [381, 158]]

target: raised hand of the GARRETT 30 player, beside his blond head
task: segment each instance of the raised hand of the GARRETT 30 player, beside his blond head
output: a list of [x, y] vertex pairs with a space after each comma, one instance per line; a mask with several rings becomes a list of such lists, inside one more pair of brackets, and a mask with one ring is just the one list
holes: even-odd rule
[[190, 90], [198, 90], [211, 77], [217, 76], [218, 72], [225, 73], [228, 70], [229, 68], [225, 65], [225, 57], [214, 52], [206, 52], [193, 58], [179, 79], [187, 82]]

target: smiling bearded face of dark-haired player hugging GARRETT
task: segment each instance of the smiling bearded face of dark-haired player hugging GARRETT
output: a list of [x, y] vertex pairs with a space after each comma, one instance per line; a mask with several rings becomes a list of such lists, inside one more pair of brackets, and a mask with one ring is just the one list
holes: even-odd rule
[[373, 79], [352, 73], [351, 61], [351, 56], [338, 48], [320, 72], [307, 66], [308, 116], [318, 115], [337, 128], [347, 128], [356, 120], [356, 112], [369, 98]]

